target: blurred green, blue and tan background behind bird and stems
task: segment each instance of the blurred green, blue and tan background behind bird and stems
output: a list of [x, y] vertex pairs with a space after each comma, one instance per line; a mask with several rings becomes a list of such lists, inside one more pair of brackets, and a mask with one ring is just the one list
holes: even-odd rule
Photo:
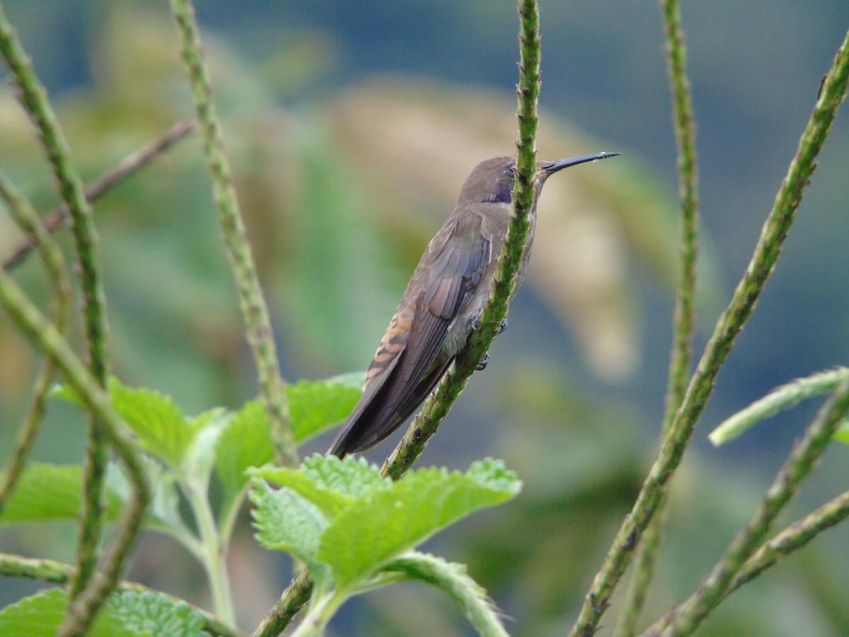
[[[546, 186], [509, 330], [422, 458], [465, 468], [495, 455], [525, 481], [520, 498], [425, 547], [468, 561], [517, 635], [571, 626], [655, 453], [677, 237], [655, 3], [541, 4], [541, 157], [622, 156]], [[191, 113], [166, 3], [4, 6], [87, 180]], [[514, 5], [231, 0], [197, 10], [284, 375], [362, 370], [468, 172], [513, 148]], [[751, 256], [847, 23], [846, 0], [684, 3], [704, 237], [697, 355]], [[8, 74], [3, 80], [0, 165], [48, 210], [58, 201], [52, 180]], [[698, 585], [816, 405], [727, 447], [711, 448], [706, 434], [773, 386], [849, 359], [847, 132], [842, 112], [779, 267], [696, 430], [672, 494], [647, 618]], [[188, 413], [256, 395], [199, 140], [183, 141], [111, 191], [96, 214], [121, 380], [167, 392]], [[19, 239], [3, 213], [0, 254]], [[17, 274], [43, 297], [37, 259]], [[0, 318], [0, 449], [11, 446], [36, 364]], [[36, 458], [79, 461], [82, 431], [73, 409], [51, 403]], [[331, 435], [305, 453], [323, 451]], [[395, 442], [371, 459], [380, 462]], [[784, 524], [846, 488], [847, 454], [826, 454]], [[288, 582], [290, 565], [258, 549], [246, 522], [230, 567], [247, 629]], [[75, 540], [70, 526], [18, 527], [0, 533], [0, 550], [69, 560]], [[734, 594], [702, 634], [849, 634], [847, 540], [846, 528], [825, 533]], [[208, 606], [200, 569], [166, 538], [144, 538], [130, 577]], [[0, 601], [38, 587], [2, 579]], [[605, 617], [601, 634], [614, 617]], [[413, 585], [349, 603], [331, 629], [469, 632], [447, 600]]]

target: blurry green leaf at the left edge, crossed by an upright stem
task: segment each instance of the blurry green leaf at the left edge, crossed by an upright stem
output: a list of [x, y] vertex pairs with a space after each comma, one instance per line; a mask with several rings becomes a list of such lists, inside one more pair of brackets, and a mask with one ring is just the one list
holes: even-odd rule
[[[31, 463], [6, 500], [0, 525], [25, 521], [77, 521], [81, 493], [82, 469], [79, 465]], [[106, 519], [115, 521], [121, 511], [121, 498], [113, 489], [107, 490], [106, 498]]]

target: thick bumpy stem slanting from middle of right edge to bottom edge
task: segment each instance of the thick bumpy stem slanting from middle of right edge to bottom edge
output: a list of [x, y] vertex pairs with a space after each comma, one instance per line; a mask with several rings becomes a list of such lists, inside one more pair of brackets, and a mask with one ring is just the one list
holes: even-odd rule
[[725, 554], [711, 569], [699, 589], [681, 606], [658, 620], [646, 631], [647, 636], [691, 634], [708, 613], [728, 596], [737, 573], [767, 537], [773, 521], [796, 493], [801, 481], [811, 473], [814, 463], [831, 442], [831, 437], [847, 413], [849, 379], [841, 382], [832, 397], [819, 410], [817, 417], [808, 426], [805, 436], [796, 445], [767, 490], [762, 504], [743, 530], [734, 536]]

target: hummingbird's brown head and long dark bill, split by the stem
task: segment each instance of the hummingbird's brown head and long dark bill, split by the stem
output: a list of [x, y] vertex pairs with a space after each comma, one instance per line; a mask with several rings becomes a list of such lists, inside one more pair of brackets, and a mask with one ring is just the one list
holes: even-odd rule
[[[619, 153], [596, 153], [595, 155], [580, 155], [556, 161], [537, 161], [537, 174], [534, 178], [537, 193], [545, 180], [555, 172], [586, 161], [596, 161], [616, 155], [619, 155]], [[513, 200], [515, 168], [515, 157], [493, 157], [490, 160], [481, 161], [480, 164], [475, 166], [469, 178], [466, 179], [466, 183], [463, 184], [457, 203], [486, 201], [488, 203], [509, 204]]]

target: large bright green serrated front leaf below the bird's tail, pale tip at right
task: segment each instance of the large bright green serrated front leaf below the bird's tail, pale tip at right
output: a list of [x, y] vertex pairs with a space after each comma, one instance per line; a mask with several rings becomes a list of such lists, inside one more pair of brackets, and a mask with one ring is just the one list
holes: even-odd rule
[[337, 589], [367, 578], [404, 551], [468, 516], [519, 493], [500, 461], [475, 462], [465, 474], [445, 469], [408, 473], [391, 488], [357, 499], [324, 531], [317, 558], [330, 565]]

